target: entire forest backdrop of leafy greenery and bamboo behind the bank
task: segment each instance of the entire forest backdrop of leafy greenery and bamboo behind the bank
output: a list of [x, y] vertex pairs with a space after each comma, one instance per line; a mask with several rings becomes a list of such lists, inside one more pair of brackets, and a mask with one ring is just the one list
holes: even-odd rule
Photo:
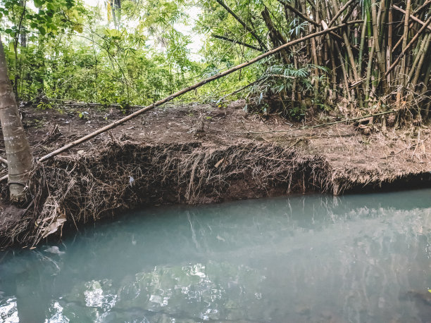
[[[180, 98], [246, 98], [244, 108], [304, 118], [430, 108], [430, 0], [2, 0], [0, 34], [15, 96], [146, 105], [327, 27]], [[357, 21], [357, 23], [352, 23]], [[45, 99], [42, 99], [45, 98]], [[221, 99], [220, 99], [221, 98]], [[82, 113], [80, 113], [82, 116]]]

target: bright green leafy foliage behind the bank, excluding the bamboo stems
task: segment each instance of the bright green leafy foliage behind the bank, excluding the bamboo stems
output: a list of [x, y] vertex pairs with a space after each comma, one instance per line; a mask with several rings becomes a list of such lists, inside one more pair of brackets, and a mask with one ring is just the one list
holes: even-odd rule
[[[0, 15], [6, 18], [0, 34], [20, 99], [44, 94], [50, 99], [118, 103], [126, 113], [132, 104], [161, 99], [254, 58], [258, 49], [273, 47], [261, 17], [265, 8], [286, 39], [308, 30], [298, 18], [288, 21], [277, 0], [225, 0], [246, 27], [217, 1], [123, 0], [120, 9], [111, 2], [88, 8], [82, 1], [35, 0], [33, 10], [25, 1], [0, 0]], [[199, 53], [190, 49], [190, 30], [202, 37]], [[214, 34], [251, 47], [215, 39]], [[289, 58], [294, 55], [290, 52]], [[320, 76], [312, 70], [320, 70]], [[282, 113], [296, 118], [303, 114], [303, 104], [288, 102], [292, 88], [312, 96], [316, 105], [324, 104], [315, 84], [325, 85], [326, 73], [304, 60], [294, 68], [277, 56], [206, 84], [182, 100], [218, 102], [258, 80], [251, 91], [230, 99], [256, 96], [261, 112], [268, 112], [266, 98], [277, 96]]]

